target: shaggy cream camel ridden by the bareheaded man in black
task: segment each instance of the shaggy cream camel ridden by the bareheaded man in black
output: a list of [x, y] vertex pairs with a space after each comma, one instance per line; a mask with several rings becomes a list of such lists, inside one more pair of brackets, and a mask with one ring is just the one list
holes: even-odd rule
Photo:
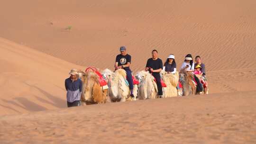
[[157, 97], [157, 85], [149, 72], [138, 72], [136, 79], [139, 81], [138, 99], [155, 99]]

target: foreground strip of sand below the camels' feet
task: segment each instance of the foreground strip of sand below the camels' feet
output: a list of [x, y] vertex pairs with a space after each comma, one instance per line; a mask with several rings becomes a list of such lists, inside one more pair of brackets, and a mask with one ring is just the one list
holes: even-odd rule
[[255, 144], [256, 91], [108, 103], [0, 117], [0, 141]]

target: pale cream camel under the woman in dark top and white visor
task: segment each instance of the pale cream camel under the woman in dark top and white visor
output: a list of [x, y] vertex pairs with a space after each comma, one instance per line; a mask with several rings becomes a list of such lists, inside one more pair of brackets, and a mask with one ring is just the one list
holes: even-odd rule
[[163, 97], [177, 97], [178, 91], [177, 91], [177, 85], [179, 82], [179, 72], [173, 73], [167, 73], [165, 71], [160, 72], [163, 81], [165, 82], [166, 86], [163, 88]]

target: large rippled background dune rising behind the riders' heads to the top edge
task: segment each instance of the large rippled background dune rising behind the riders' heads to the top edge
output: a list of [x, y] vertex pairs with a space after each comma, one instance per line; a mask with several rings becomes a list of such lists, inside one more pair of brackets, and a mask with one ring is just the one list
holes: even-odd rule
[[79, 65], [112, 68], [126, 45], [134, 72], [155, 48], [163, 60], [175, 54], [178, 66], [191, 53], [201, 55], [209, 71], [256, 67], [255, 0], [15, 3], [1, 3], [0, 36]]

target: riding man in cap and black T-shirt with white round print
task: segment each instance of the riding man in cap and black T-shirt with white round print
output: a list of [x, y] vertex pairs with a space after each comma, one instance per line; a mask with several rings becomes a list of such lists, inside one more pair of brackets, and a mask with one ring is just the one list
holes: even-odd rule
[[134, 98], [133, 95], [133, 80], [132, 80], [132, 74], [130, 70], [130, 64], [131, 64], [131, 56], [126, 53], [126, 47], [121, 46], [120, 47], [120, 53], [116, 57], [116, 63], [115, 63], [115, 69], [124, 69], [126, 71], [127, 75], [127, 81], [129, 83], [129, 89], [130, 89], [130, 96]]

